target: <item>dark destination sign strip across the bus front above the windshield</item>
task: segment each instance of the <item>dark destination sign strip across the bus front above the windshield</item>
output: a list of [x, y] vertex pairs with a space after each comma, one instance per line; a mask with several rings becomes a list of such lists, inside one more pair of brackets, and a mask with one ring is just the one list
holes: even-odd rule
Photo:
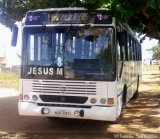
[[103, 11], [61, 11], [61, 12], [29, 12], [25, 20], [25, 25], [43, 24], [112, 24]]

